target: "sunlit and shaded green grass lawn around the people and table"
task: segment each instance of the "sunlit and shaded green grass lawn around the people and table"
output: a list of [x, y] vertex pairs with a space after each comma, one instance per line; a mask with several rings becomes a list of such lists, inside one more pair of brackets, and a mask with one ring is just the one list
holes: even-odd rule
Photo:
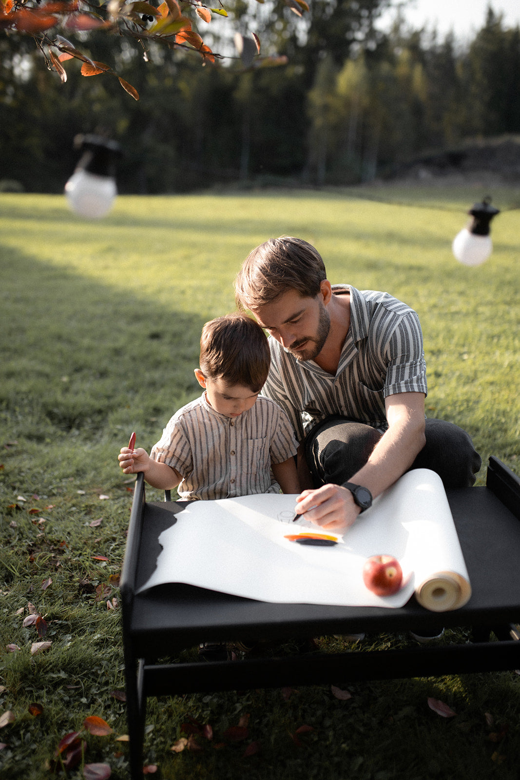
[[[0, 195], [0, 718], [15, 718], [0, 728], [0, 777], [48, 777], [59, 740], [88, 715], [113, 732], [87, 735], [85, 761], [127, 777], [127, 746], [116, 739], [126, 733], [120, 614], [107, 601], [118, 597], [132, 484], [116, 456], [133, 430], [150, 449], [198, 395], [200, 328], [234, 309], [235, 273], [264, 239], [301, 236], [332, 282], [384, 289], [415, 308], [428, 416], [472, 434], [484, 463], [477, 484], [490, 455], [518, 473], [520, 211], [507, 211], [518, 190], [492, 193], [503, 212], [485, 264], [466, 268], [451, 256], [465, 211], [485, 194], [388, 186], [119, 197], [102, 222], [71, 215], [62, 197]], [[29, 603], [52, 643], [34, 655], [37, 629], [23, 627]], [[455, 636], [464, 632], [444, 641]], [[408, 641], [370, 636], [363, 647]], [[175, 780], [517, 777], [514, 672], [349, 686], [347, 669], [333, 682], [352, 698], [315, 686], [151, 700], [147, 764]], [[427, 697], [457, 715], [440, 718]], [[214, 739], [172, 752], [189, 717], [209, 723]], [[229, 743], [226, 729], [241, 718], [248, 736]], [[294, 739], [302, 725], [313, 730]], [[244, 756], [256, 742], [261, 752]], [[83, 777], [81, 764], [68, 776]]]

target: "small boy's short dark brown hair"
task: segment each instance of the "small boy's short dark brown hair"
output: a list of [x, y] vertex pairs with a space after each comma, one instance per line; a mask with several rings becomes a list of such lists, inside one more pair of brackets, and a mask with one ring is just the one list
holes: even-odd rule
[[208, 379], [244, 385], [259, 392], [265, 385], [271, 353], [260, 325], [246, 314], [226, 314], [207, 322], [200, 337], [200, 371]]

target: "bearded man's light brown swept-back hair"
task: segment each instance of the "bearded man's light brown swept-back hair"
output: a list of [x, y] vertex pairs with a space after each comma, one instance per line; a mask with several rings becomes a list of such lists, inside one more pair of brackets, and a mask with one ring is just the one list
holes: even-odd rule
[[289, 289], [314, 298], [326, 278], [324, 261], [310, 243], [280, 236], [256, 246], [246, 257], [235, 279], [235, 300], [239, 309], [255, 310]]

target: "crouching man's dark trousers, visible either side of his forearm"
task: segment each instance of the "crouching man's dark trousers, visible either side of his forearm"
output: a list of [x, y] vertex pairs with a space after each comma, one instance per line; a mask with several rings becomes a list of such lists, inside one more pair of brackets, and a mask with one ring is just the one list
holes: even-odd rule
[[[370, 425], [345, 417], [327, 417], [305, 440], [306, 461], [314, 487], [343, 484], [365, 465], [381, 438]], [[482, 465], [469, 434], [444, 420], [426, 420], [426, 444], [411, 469], [431, 469], [444, 488], [471, 488]]]

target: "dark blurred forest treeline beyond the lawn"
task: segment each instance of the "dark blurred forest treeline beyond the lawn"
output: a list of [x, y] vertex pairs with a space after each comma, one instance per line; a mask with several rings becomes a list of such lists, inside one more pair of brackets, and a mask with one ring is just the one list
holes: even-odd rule
[[[278, 20], [270, 34], [265, 23], [263, 46], [288, 56], [270, 68], [202, 67], [200, 57], [168, 48], [145, 62], [126, 41], [115, 51], [100, 34], [84, 36], [97, 59], [117, 59], [140, 101], [117, 79], [81, 76], [76, 63], [61, 83], [30, 39], [3, 35], [0, 180], [61, 191], [77, 161], [76, 133], [117, 140], [119, 190], [143, 194], [236, 181], [352, 184], [425, 150], [520, 133], [518, 27], [489, 9], [465, 44], [399, 20], [382, 34], [374, 20], [383, 5], [314, 0], [306, 30]], [[245, 29], [250, 7], [234, 7]], [[225, 49], [226, 34], [214, 50]]]

